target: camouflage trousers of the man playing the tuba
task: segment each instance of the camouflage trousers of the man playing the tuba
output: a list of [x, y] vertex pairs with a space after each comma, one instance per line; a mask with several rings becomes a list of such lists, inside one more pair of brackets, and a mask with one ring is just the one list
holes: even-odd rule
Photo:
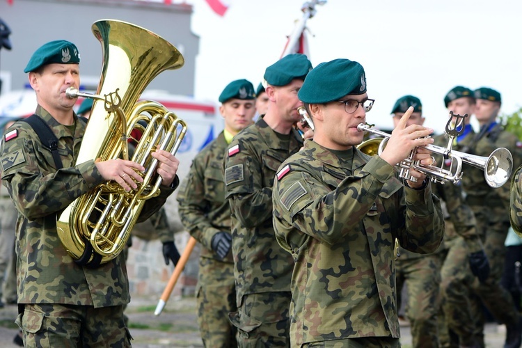
[[16, 323], [25, 347], [131, 347], [122, 306], [26, 303]]

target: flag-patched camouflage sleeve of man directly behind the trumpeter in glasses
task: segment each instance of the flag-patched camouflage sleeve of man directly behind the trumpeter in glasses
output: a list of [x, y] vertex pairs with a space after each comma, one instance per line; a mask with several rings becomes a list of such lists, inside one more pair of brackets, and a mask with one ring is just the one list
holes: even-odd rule
[[[249, 146], [254, 147], [255, 142]], [[262, 163], [253, 153], [245, 142], [232, 141], [225, 156], [226, 198], [232, 212], [246, 228], [271, 220], [272, 214], [272, 187], [264, 185]]]

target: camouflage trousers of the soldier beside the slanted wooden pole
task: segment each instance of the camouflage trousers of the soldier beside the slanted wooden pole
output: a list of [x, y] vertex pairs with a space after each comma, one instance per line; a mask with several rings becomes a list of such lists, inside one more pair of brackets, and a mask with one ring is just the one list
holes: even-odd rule
[[237, 311], [233, 263], [200, 258], [196, 303], [203, 345], [236, 347], [237, 330], [228, 319]]

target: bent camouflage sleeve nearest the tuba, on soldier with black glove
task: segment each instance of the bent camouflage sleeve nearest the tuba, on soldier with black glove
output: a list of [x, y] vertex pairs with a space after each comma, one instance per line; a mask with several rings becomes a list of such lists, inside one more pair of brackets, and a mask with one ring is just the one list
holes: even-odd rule
[[212, 237], [219, 232], [207, 218], [209, 202], [205, 199], [205, 168], [193, 161], [189, 175], [177, 193], [178, 211], [184, 228], [205, 248], [212, 250]]

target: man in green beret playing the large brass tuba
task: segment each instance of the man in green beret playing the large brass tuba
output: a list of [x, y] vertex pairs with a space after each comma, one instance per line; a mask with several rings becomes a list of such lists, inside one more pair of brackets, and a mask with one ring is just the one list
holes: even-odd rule
[[[35, 90], [35, 117], [58, 139], [59, 168], [52, 152], [27, 122], [17, 122], [4, 135], [0, 148], [3, 185], [18, 210], [17, 284], [19, 315], [26, 347], [130, 346], [123, 321], [129, 302], [129, 283], [123, 255], [89, 268], [75, 262], [56, 237], [56, 216], [97, 184], [113, 180], [122, 189], [143, 182], [132, 161], [90, 160], [74, 166], [85, 123], [74, 114], [75, 99], [65, 95], [79, 88], [77, 47], [65, 40], [38, 48], [24, 72]], [[139, 219], [147, 219], [179, 183], [179, 161], [163, 150], [152, 152], [159, 161], [161, 193], [145, 203]]]

